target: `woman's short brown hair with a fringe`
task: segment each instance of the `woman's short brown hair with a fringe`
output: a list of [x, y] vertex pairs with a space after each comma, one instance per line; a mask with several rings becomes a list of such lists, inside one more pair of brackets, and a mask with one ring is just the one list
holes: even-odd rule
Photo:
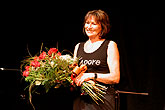
[[[108, 14], [102, 10], [93, 10], [93, 11], [89, 11], [84, 18], [84, 25], [86, 23], [86, 20], [91, 17], [94, 16], [96, 18], [96, 21], [98, 23], [101, 24], [101, 34], [100, 37], [101, 38], [105, 38], [106, 34], [110, 31], [110, 21], [109, 21], [109, 17]], [[85, 33], [85, 28], [83, 27], [83, 32]]]

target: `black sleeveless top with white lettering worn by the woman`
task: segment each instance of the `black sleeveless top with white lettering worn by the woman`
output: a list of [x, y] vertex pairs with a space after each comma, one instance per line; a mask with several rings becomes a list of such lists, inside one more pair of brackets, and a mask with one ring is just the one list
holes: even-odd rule
[[85, 64], [88, 67], [88, 73], [109, 73], [110, 71], [107, 64], [109, 40], [105, 40], [101, 46], [92, 53], [86, 53], [84, 51], [84, 44], [85, 42], [80, 43], [77, 51], [77, 57], [80, 58], [79, 64]]

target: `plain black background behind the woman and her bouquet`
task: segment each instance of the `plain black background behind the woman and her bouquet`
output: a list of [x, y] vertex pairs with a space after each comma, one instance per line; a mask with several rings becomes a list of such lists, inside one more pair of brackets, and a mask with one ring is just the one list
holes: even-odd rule
[[[17, 4], [17, 3], [16, 3]], [[119, 90], [145, 92], [148, 96], [120, 94], [121, 110], [164, 110], [164, 54], [163, 54], [163, 7], [161, 3], [111, 4], [98, 7], [54, 6], [33, 3], [27, 5], [2, 4], [0, 68], [19, 69], [21, 61], [36, 55], [41, 44], [59, 47], [71, 52], [78, 42], [86, 41], [83, 35], [83, 19], [89, 10], [102, 9], [111, 21], [109, 38], [117, 42], [121, 60]], [[58, 8], [57, 8], [58, 6]], [[48, 40], [54, 39], [54, 40]], [[27, 49], [28, 48], [28, 49]], [[27, 86], [17, 71], [0, 71], [1, 107], [31, 110]], [[54, 94], [59, 94], [55, 91]], [[65, 91], [66, 92], [66, 91]], [[59, 109], [71, 108], [69, 93], [51, 96], [34, 95], [34, 105]], [[25, 96], [25, 97], [24, 97]], [[65, 102], [68, 102], [65, 103]]]

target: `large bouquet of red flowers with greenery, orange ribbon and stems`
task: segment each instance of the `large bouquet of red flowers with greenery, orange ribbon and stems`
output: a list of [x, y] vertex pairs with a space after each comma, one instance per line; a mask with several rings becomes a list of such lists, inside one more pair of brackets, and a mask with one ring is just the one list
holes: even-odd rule
[[[70, 55], [61, 55], [61, 52], [56, 48], [50, 48], [48, 52], [41, 51], [39, 56], [25, 59], [21, 65], [21, 70], [25, 81], [30, 83], [30, 103], [32, 104], [32, 88], [39, 85], [42, 85], [46, 92], [52, 87], [59, 88], [61, 85], [76, 87], [75, 77], [87, 69], [85, 65], [79, 67], [78, 60], [78, 58], [74, 59]], [[104, 98], [106, 89], [92, 80], [83, 82], [81, 86], [82, 94], [89, 94], [97, 104], [98, 100], [103, 102], [102, 98]]]

